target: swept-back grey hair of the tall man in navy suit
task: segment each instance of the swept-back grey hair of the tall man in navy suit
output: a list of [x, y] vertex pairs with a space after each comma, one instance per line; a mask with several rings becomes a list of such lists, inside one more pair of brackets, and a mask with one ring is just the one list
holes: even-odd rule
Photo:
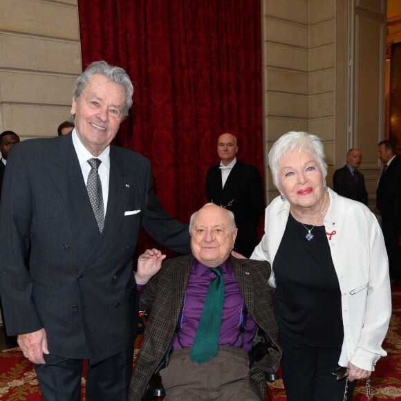
[[73, 91], [73, 96], [75, 99], [82, 95], [84, 88], [88, 84], [92, 75], [103, 75], [109, 80], [115, 82], [116, 84], [120, 84], [124, 86], [125, 89], [125, 108], [124, 113], [122, 115], [122, 120], [127, 118], [128, 111], [132, 106], [132, 96], [133, 96], [133, 85], [129, 75], [124, 71], [121, 67], [111, 66], [104, 61], [93, 62], [88, 65], [88, 68], [77, 78], [77, 82], [75, 82], [75, 88]]

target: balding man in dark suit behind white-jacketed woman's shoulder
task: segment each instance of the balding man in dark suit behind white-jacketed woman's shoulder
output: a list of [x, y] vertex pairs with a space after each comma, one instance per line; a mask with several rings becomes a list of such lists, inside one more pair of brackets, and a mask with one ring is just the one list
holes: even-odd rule
[[360, 171], [357, 171], [361, 162], [362, 151], [349, 149], [346, 153], [346, 165], [334, 172], [333, 184], [337, 194], [367, 205], [368, 192], [365, 187], [365, 178]]

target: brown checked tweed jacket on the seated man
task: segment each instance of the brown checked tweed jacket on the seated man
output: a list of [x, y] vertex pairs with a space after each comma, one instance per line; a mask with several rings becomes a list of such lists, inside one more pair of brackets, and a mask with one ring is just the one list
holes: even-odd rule
[[[275, 349], [270, 348], [269, 354], [256, 362], [249, 373], [252, 389], [263, 400], [265, 373], [277, 371], [281, 358], [277, 344], [278, 328], [272, 308], [273, 290], [268, 285], [270, 265], [265, 261], [230, 258], [250, 315], [275, 347]], [[144, 342], [131, 379], [130, 401], [142, 398], [152, 373], [168, 351], [182, 308], [193, 261], [192, 255], [167, 259], [160, 272], [140, 293], [140, 303], [146, 310], [151, 311], [144, 332]]]

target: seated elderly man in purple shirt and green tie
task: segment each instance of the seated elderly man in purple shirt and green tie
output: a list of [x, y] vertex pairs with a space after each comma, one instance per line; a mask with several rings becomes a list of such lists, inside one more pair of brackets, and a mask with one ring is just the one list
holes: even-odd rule
[[[192, 254], [165, 261], [161, 270], [165, 256], [158, 250], [138, 259], [136, 281], [146, 284], [140, 304], [151, 312], [129, 399], [141, 400], [163, 364], [166, 401], [263, 400], [265, 374], [277, 370], [281, 357], [270, 265], [230, 257], [237, 229], [223, 207], [202, 207], [189, 230]], [[211, 300], [219, 285], [223, 294]]]

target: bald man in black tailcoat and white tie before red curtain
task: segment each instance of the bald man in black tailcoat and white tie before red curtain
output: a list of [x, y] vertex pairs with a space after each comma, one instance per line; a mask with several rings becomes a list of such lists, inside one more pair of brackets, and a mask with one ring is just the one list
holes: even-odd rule
[[206, 196], [207, 201], [234, 213], [238, 228], [234, 251], [250, 257], [259, 243], [257, 226], [265, 201], [259, 170], [237, 160], [237, 152], [236, 137], [232, 133], [218, 137], [217, 153], [221, 161], [207, 171]]

